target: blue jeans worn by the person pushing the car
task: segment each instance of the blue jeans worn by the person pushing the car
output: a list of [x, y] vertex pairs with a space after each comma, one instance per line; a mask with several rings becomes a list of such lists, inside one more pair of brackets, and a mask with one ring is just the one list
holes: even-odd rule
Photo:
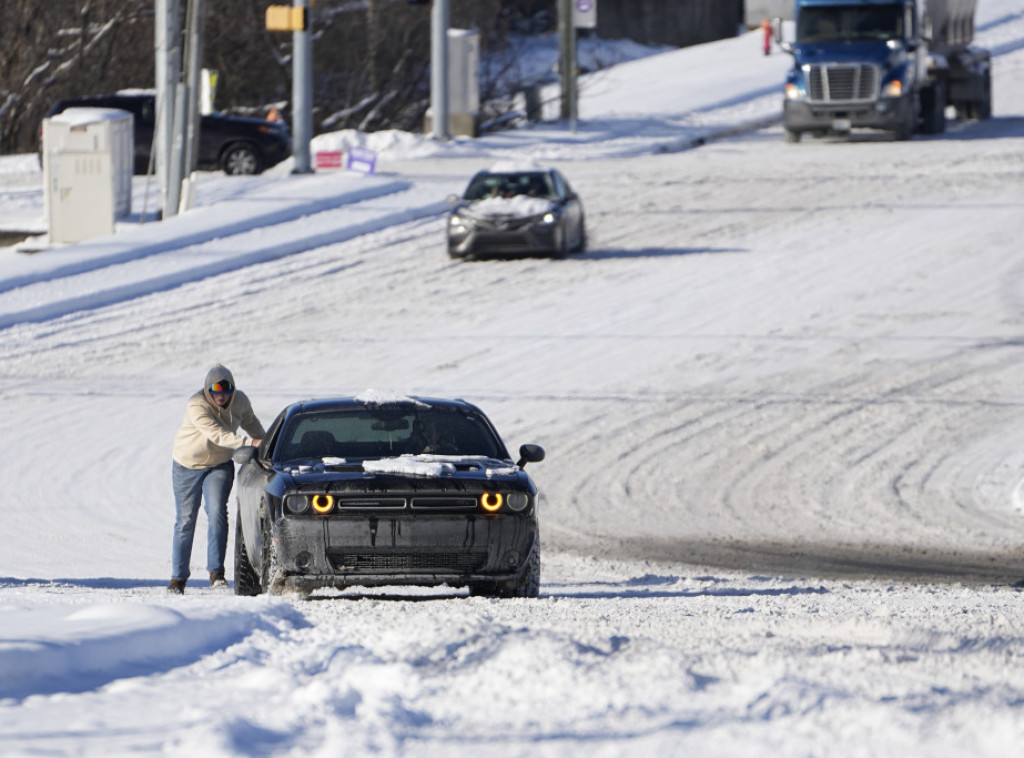
[[185, 468], [177, 461], [171, 462], [171, 483], [174, 487], [174, 543], [171, 548], [171, 579], [185, 581], [191, 575], [193, 537], [196, 534], [196, 516], [201, 501], [206, 503], [206, 568], [224, 571], [224, 553], [227, 552], [227, 496], [234, 482], [234, 464], [231, 461], [213, 468]]

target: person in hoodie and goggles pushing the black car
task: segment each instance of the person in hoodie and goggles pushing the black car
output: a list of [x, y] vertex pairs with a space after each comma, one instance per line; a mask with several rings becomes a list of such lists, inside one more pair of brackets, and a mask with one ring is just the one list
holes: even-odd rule
[[[241, 427], [249, 436], [238, 433]], [[234, 377], [221, 365], [206, 375], [203, 389], [188, 398], [185, 418], [174, 437], [171, 482], [174, 487], [174, 542], [168, 592], [182, 594], [190, 575], [196, 516], [206, 503], [206, 567], [210, 586], [226, 588], [227, 497], [234, 481], [231, 453], [246, 445], [258, 446], [266, 432], [253, 413], [252, 403], [234, 387]]]

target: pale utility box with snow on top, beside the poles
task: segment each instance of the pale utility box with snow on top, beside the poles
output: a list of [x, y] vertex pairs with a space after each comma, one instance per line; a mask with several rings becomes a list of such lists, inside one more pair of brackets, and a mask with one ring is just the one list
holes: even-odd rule
[[69, 108], [43, 121], [43, 204], [51, 243], [114, 234], [131, 213], [132, 115]]

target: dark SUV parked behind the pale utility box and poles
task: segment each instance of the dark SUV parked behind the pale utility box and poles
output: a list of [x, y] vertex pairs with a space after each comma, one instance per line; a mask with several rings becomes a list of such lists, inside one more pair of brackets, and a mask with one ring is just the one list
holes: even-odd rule
[[[116, 108], [135, 117], [135, 173], [150, 170], [157, 123], [157, 96], [152, 90], [87, 95], [60, 100], [46, 117], [69, 108]], [[258, 174], [292, 155], [292, 137], [281, 121], [211, 114], [200, 119], [199, 167], [225, 174]]]

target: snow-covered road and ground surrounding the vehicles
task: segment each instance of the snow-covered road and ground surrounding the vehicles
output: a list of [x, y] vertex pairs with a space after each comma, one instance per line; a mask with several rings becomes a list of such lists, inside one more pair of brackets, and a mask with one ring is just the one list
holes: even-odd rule
[[[0, 250], [0, 754], [1019, 754], [1024, 12], [980, 5], [996, 118], [942, 137], [713, 139], [778, 112], [753, 34], [595, 75], [575, 133], [377, 135], [375, 177]], [[439, 200], [507, 157], [588, 253], [447, 259]], [[42, 229], [32, 160], [0, 228]], [[265, 420], [376, 387], [544, 445], [542, 596], [168, 597], [215, 361]]]

